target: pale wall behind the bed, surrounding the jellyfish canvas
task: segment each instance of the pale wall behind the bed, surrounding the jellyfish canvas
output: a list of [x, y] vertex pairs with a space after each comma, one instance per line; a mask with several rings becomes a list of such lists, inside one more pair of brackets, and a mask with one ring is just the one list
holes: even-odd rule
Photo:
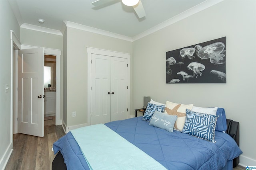
[[[255, 12], [255, 0], [225, 0], [135, 41], [133, 109], [143, 106], [143, 96], [162, 103], [223, 107], [227, 118], [240, 122], [240, 163], [255, 165]], [[166, 84], [167, 51], [225, 36], [226, 84]]]

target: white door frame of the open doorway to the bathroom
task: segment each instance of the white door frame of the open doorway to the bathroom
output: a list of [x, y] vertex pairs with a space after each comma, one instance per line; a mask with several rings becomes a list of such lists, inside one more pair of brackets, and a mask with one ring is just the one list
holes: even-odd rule
[[[32, 48], [38, 48], [36, 46], [30, 46], [30, 45], [20, 45], [20, 49], [32, 49]], [[56, 56], [56, 107], [55, 107], [55, 125], [62, 125], [62, 119], [60, 119], [60, 57], [61, 57], [61, 50], [58, 49], [49, 49], [44, 48], [44, 54], [45, 55], [55, 55]], [[16, 54], [18, 58], [18, 53]], [[16, 58], [16, 57], [15, 57]], [[18, 70], [18, 64], [15, 66], [15, 70]], [[15, 75], [16, 80], [18, 80], [18, 73]], [[18, 87], [18, 82], [14, 84], [15, 87]], [[18, 91], [17, 88], [15, 90]], [[13, 101], [14, 105], [18, 104], [18, 98], [17, 100]], [[18, 110], [15, 110], [15, 113], [13, 114], [14, 122], [15, 122], [15, 129], [13, 133], [18, 133]]]

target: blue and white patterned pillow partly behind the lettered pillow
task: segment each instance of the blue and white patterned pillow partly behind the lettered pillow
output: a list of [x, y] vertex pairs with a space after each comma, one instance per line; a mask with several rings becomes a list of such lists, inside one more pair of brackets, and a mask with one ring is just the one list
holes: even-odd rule
[[153, 114], [154, 114], [154, 111], [159, 111], [161, 113], [164, 112], [164, 108], [165, 106], [164, 105], [157, 105], [157, 104], [152, 104], [152, 103], [148, 103], [148, 106], [145, 110], [145, 113], [142, 117], [142, 120], [144, 121], [150, 121]]

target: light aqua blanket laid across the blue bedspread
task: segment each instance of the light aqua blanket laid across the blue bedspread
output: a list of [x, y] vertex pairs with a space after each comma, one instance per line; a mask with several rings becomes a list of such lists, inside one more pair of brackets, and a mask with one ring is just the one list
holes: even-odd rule
[[98, 124], [71, 130], [90, 170], [166, 170], [132, 143]]

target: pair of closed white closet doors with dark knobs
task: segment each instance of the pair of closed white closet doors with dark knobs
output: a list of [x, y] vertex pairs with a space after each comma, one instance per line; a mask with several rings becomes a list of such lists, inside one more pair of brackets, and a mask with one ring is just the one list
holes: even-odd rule
[[91, 125], [127, 119], [127, 59], [92, 54]]

